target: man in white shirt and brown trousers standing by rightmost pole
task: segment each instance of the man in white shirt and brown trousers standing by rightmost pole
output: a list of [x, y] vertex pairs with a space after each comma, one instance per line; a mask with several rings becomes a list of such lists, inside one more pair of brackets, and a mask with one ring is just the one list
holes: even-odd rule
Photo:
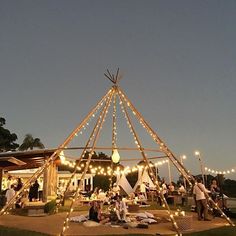
[[208, 207], [207, 207], [207, 199], [206, 193], [210, 191], [205, 188], [205, 185], [202, 183], [202, 179], [197, 179], [197, 183], [195, 183], [193, 187], [193, 194], [196, 197], [197, 204], [197, 214], [198, 220], [210, 221], [208, 218]]

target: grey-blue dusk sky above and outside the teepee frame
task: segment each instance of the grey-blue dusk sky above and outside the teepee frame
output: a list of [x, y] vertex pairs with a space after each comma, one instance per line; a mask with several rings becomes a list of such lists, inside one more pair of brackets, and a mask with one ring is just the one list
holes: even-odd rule
[[[0, 116], [55, 148], [110, 88], [193, 174], [236, 168], [236, 1], [2, 1]], [[227, 175], [236, 179], [236, 174]]]

